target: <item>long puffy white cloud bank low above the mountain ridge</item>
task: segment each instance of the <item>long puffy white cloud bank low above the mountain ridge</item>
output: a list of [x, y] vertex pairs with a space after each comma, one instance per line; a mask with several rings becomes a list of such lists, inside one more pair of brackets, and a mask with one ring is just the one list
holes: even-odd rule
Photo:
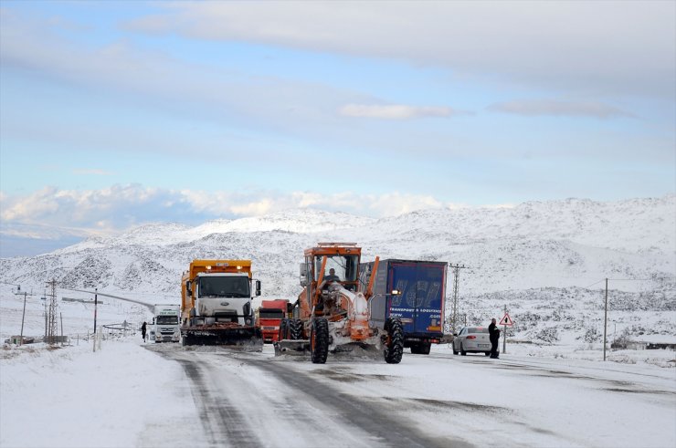
[[26, 196], [0, 193], [0, 200], [3, 232], [30, 237], [48, 235], [55, 228], [69, 229], [70, 234], [73, 229], [79, 229], [80, 234], [111, 234], [144, 223], [200, 224], [216, 218], [258, 216], [298, 208], [384, 217], [444, 206], [432, 196], [398, 192], [232, 193], [173, 191], [139, 184], [89, 191], [45, 188]]

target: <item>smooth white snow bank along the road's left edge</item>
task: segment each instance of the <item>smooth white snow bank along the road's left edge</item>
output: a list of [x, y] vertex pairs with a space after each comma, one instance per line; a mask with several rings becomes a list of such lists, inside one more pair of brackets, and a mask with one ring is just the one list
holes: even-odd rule
[[[0, 446], [205, 445], [184, 371], [140, 337], [0, 354]], [[149, 402], [150, 401], [150, 402]]]

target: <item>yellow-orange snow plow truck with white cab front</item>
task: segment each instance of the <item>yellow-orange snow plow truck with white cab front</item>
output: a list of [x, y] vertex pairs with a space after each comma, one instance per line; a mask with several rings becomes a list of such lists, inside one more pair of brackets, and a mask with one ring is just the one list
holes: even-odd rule
[[[253, 290], [253, 291], [252, 291]], [[181, 279], [181, 342], [263, 348], [251, 302], [250, 260], [193, 260]]]

